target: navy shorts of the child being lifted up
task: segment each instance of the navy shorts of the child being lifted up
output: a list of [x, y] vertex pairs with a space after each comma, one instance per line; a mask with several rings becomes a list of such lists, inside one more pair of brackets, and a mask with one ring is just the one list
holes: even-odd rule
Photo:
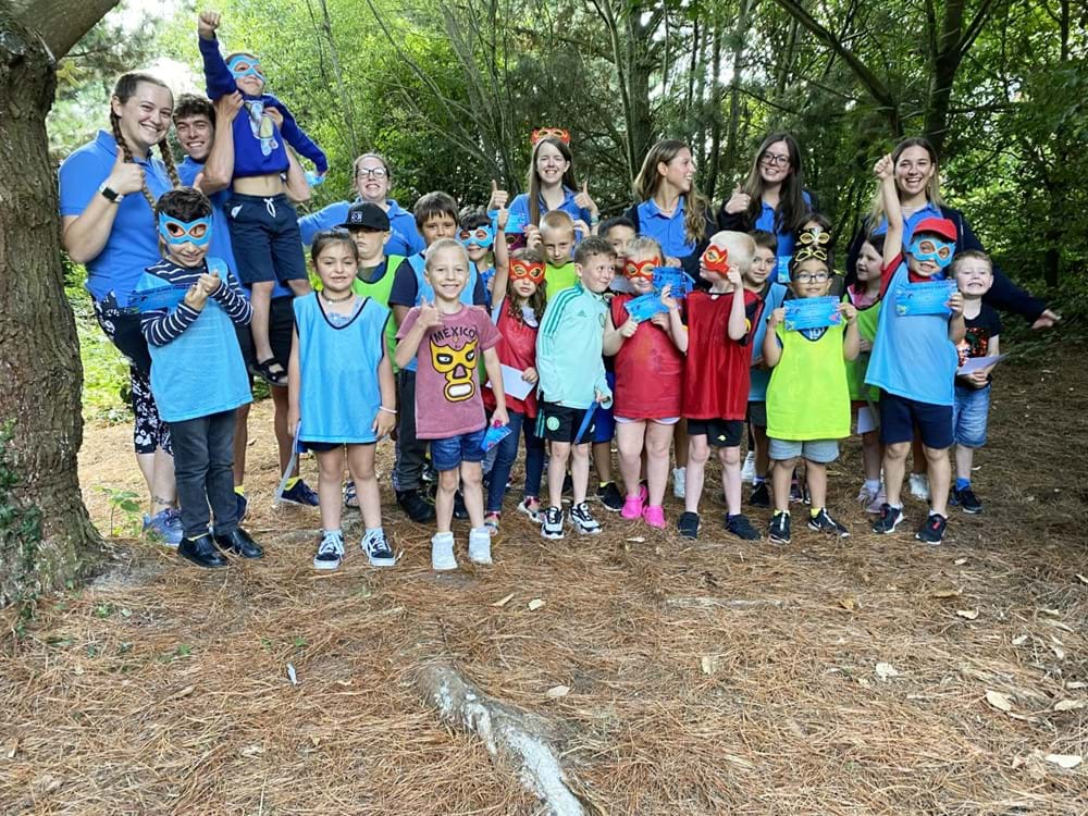
[[298, 213], [285, 195], [263, 198], [236, 193], [226, 202], [226, 214], [243, 283], [307, 280]]

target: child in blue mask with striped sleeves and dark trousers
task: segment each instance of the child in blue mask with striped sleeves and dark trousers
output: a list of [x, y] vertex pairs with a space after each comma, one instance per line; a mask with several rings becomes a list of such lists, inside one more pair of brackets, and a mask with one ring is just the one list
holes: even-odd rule
[[151, 392], [174, 445], [184, 529], [177, 554], [205, 568], [225, 567], [224, 554], [260, 558], [263, 551], [238, 527], [234, 493], [235, 411], [251, 400], [234, 326], [246, 325], [252, 310], [226, 263], [208, 257], [212, 206], [202, 193], [163, 194], [156, 221], [163, 258], [144, 273], [135, 299]]

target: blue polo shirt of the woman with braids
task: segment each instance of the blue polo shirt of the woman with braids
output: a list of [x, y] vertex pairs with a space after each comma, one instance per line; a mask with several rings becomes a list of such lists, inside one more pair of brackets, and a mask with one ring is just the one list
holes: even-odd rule
[[[75, 150], [57, 174], [61, 217], [82, 215], [99, 195], [98, 188], [118, 160], [113, 135], [99, 131], [94, 141]], [[158, 159], [135, 159], [154, 198], [173, 188], [166, 168]], [[139, 190], [126, 195], [118, 208], [110, 237], [102, 251], [87, 262], [87, 290], [95, 300], [113, 292], [126, 301], [144, 270], [161, 260], [154, 213]]]

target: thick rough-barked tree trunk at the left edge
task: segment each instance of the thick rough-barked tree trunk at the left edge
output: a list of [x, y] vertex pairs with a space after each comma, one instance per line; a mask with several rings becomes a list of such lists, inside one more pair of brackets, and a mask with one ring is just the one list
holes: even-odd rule
[[101, 554], [76, 470], [83, 367], [64, 297], [45, 124], [55, 75], [46, 42], [5, 8], [0, 7], [0, 423], [10, 426], [11, 440], [0, 446], [0, 605], [33, 603], [39, 593], [63, 588], [85, 576]]

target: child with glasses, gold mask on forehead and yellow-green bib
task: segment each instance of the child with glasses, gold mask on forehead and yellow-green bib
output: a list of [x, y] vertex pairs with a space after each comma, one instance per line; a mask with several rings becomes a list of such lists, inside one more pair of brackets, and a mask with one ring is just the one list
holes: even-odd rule
[[[795, 298], [826, 297], [831, 289], [831, 251], [815, 235], [802, 234], [790, 261]], [[767, 318], [763, 360], [771, 369], [767, 385], [767, 436], [774, 460], [775, 515], [767, 537], [789, 544], [790, 479], [805, 460], [812, 507], [808, 528], [844, 539], [850, 533], [827, 511], [827, 466], [839, 458], [839, 440], [850, 435], [846, 360], [857, 357], [857, 310], [839, 302], [829, 325], [791, 330], [786, 307]]]

